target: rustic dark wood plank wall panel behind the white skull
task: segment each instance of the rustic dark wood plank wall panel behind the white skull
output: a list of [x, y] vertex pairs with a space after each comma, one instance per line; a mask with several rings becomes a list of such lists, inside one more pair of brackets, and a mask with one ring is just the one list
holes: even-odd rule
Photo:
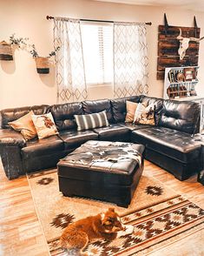
[[167, 34], [165, 26], [159, 25], [158, 33], [158, 58], [157, 58], [157, 79], [164, 79], [166, 67], [180, 67], [198, 65], [199, 43], [189, 42], [185, 57], [180, 60], [178, 50], [180, 42], [176, 37], [179, 36], [180, 29], [182, 37], [200, 37], [200, 28], [168, 26]]

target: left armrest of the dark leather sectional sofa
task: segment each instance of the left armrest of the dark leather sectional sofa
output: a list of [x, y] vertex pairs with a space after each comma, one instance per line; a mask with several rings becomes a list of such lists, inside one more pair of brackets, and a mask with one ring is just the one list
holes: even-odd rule
[[25, 139], [20, 132], [0, 129], [0, 156], [8, 179], [16, 179], [23, 174], [21, 149], [25, 145]]

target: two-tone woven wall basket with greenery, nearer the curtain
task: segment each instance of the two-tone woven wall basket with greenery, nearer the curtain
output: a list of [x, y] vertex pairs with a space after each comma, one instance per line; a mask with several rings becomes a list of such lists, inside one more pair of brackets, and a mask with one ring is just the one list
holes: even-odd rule
[[59, 51], [60, 47], [57, 47], [55, 51], [51, 51], [49, 56], [47, 57], [40, 57], [36, 51], [35, 44], [31, 45], [30, 53], [32, 57], [35, 58], [36, 61], [36, 71], [39, 74], [48, 74], [49, 73], [49, 57], [55, 56], [56, 51]]

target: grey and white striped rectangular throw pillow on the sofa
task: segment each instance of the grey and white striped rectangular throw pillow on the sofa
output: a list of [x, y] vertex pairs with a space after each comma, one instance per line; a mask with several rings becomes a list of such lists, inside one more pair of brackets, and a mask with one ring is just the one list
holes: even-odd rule
[[75, 115], [75, 118], [77, 131], [109, 126], [106, 111], [87, 115]]

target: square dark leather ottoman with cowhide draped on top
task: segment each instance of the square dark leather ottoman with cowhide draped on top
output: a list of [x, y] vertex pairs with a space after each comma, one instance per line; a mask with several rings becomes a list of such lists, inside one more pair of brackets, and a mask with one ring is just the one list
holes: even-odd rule
[[64, 196], [128, 207], [143, 171], [143, 145], [89, 140], [57, 164]]

